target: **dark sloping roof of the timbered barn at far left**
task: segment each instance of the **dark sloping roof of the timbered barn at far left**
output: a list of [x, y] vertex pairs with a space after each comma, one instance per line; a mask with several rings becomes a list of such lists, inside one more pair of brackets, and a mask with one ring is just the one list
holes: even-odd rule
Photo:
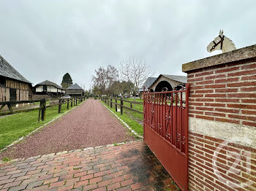
[[0, 55], [0, 76], [8, 77], [11, 79], [16, 79], [20, 82], [26, 82], [31, 84], [28, 79], [23, 77], [17, 70], [15, 70], [10, 63], [8, 63], [4, 58]]

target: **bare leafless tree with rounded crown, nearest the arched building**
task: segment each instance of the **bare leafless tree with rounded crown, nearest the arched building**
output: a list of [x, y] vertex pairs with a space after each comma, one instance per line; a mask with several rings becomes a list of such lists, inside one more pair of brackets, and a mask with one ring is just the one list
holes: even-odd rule
[[133, 95], [138, 91], [138, 88], [148, 79], [151, 74], [146, 61], [138, 58], [129, 58], [121, 61], [119, 67], [121, 79], [127, 82], [132, 82]]

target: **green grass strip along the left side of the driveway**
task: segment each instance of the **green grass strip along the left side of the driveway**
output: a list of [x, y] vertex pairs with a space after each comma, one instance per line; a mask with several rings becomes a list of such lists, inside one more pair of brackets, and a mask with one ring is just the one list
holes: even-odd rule
[[[45, 120], [40, 120], [40, 122], [37, 121], [39, 110], [12, 114], [0, 118], [0, 149], [3, 149], [11, 144], [12, 141], [18, 140], [22, 136], [26, 136], [32, 130], [39, 128], [64, 112], [67, 112], [67, 104], [61, 106], [60, 114], [58, 113], [58, 108], [58, 106], [47, 108], [45, 112]], [[69, 109], [71, 109], [70, 104]]]

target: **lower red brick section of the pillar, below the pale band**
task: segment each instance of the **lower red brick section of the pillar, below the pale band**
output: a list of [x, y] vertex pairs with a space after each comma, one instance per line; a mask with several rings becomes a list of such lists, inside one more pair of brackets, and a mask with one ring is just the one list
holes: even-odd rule
[[[220, 146], [215, 160], [214, 152]], [[230, 157], [229, 152], [236, 155]], [[245, 182], [249, 187], [242, 186]], [[190, 133], [189, 190], [256, 190], [256, 149]]]

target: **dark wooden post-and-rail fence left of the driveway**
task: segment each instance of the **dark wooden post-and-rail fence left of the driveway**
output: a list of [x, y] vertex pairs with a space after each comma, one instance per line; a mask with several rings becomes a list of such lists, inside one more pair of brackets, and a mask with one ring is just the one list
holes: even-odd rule
[[[53, 106], [59, 106], [59, 113], [61, 112], [61, 105], [67, 103], [67, 109], [69, 109], [69, 104], [70, 106], [76, 106], [80, 104], [82, 101], [85, 101], [86, 97], [78, 97], [78, 98], [53, 98], [53, 99], [39, 99], [39, 100], [31, 100], [31, 101], [3, 101], [0, 102], [0, 116], [2, 115], [7, 115], [7, 114], [17, 114], [20, 112], [30, 112], [34, 110], [39, 110], [38, 114], [38, 122], [40, 120], [45, 120], [45, 111], [46, 108], [48, 107], [53, 107]], [[56, 101], [58, 104], [49, 104], [48, 106], [46, 105], [46, 101]], [[34, 108], [29, 108], [29, 109], [19, 109], [16, 111], [13, 111], [12, 106], [15, 104], [34, 104], [36, 102], [39, 102], [38, 107]], [[1, 112], [2, 109], [4, 109], [4, 106], [8, 107], [9, 112]]]

